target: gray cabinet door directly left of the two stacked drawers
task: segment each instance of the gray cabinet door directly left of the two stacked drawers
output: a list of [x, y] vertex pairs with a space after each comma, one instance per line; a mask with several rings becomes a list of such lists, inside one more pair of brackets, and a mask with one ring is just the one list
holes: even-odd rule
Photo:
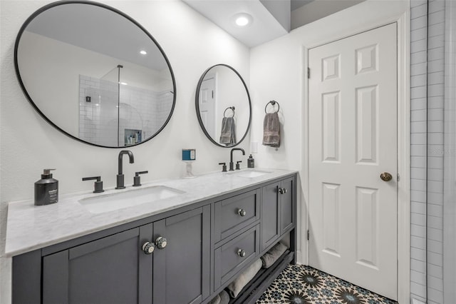
[[154, 223], [153, 303], [201, 303], [209, 296], [210, 206]]

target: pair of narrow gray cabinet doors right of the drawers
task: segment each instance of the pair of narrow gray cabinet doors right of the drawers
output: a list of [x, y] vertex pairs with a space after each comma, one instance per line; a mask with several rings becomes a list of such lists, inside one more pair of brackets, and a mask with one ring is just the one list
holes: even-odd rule
[[294, 183], [294, 178], [286, 178], [261, 188], [261, 250], [294, 226]]

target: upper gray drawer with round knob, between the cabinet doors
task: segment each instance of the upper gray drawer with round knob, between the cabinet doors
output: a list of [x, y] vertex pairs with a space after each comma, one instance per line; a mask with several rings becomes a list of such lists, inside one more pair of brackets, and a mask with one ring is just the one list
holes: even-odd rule
[[259, 220], [260, 189], [215, 203], [214, 243]]

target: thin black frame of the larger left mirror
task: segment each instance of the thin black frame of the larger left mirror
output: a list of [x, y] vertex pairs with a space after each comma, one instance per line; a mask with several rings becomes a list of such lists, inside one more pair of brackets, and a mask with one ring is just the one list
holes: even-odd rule
[[43, 11], [46, 11], [48, 9], [51, 9], [51, 8], [55, 7], [55, 6], [60, 6], [60, 5], [64, 5], [64, 4], [88, 4], [88, 5], [98, 6], [98, 7], [101, 7], [103, 9], [108, 9], [110, 11], [113, 11], [114, 13], [119, 14], [120, 16], [124, 17], [125, 19], [128, 19], [133, 24], [138, 26], [138, 28], [141, 31], [143, 31], [155, 43], [155, 45], [157, 46], [157, 49], [160, 50], [160, 53], [165, 58], [166, 64], [168, 66], [168, 69], [170, 69], [170, 74], [171, 74], [171, 78], [172, 78], [172, 93], [173, 93], [173, 98], [174, 99], [172, 101], [172, 107], [171, 107], [170, 115], [167, 117], [167, 120], [165, 121], [165, 123], [163, 123], [162, 127], [157, 132], [155, 132], [152, 136], [150, 136], [149, 138], [147, 138], [144, 141], [141, 141], [140, 143], [135, 143], [133, 145], [129, 145], [128, 147], [138, 146], [138, 145], [140, 145], [142, 143], [145, 143], [146, 141], [150, 141], [150, 139], [152, 139], [155, 136], [157, 136], [157, 134], [160, 133], [163, 130], [163, 128], [165, 128], [165, 126], [167, 126], [167, 123], [170, 121], [172, 113], [174, 112], [174, 108], [175, 108], [175, 105], [176, 105], [176, 80], [175, 80], [175, 76], [174, 76], [174, 73], [172, 71], [172, 67], [171, 67], [170, 61], [168, 60], [168, 58], [167, 58], [167, 56], [165, 54], [165, 51], [163, 51], [162, 47], [160, 46], [160, 44], [158, 44], [158, 42], [154, 39], [154, 37], [152, 37], [152, 35], [142, 25], [140, 25], [138, 23], [138, 21], [135, 21], [135, 19], [133, 19], [132, 17], [130, 17], [127, 14], [123, 13], [122, 11], [119, 11], [118, 9], [115, 9], [115, 8], [113, 8], [111, 6], [106, 5], [106, 4], [100, 4], [100, 3], [95, 2], [95, 1], [85, 1], [85, 0], [56, 1], [56, 2], [53, 2], [51, 4], [47, 4], [46, 6], [41, 7], [40, 9], [35, 11], [33, 14], [31, 14], [31, 16], [29, 16], [26, 19], [24, 24], [22, 24], [21, 29], [19, 29], [19, 33], [16, 36], [16, 42], [14, 44], [14, 69], [16, 70], [16, 76], [18, 78], [19, 84], [21, 85], [22, 91], [24, 92], [24, 95], [27, 97], [28, 101], [31, 103], [31, 106], [33, 106], [33, 108], [41, 115], [42, 118], [44, 118], [45, 121], [47, 121], [49, 124], [51, 124], [51, 126], [56, 128], [58, 131], [61, 131], [66, 136], [69, 136], [70, 138], [76, 139], [76, 141], [80, 141], [81, 143], [87, 143], [90, 146], [98, 146], [98, 147], [101, 147], [101, 148], [125, 148], [125, 146], [118, 146], [118, 147], [115, 147], [115, 146], [102, 146], [102, 145], [98, 145], [96, 143], [90, 143], [88, 141], [83, 141], [81, 138], [73, 136], [70, 133], [64, 131], [62, 128], [60, 128], [55, 123], [53, 123], [53, 121], [51, 121], [51, 119], [49, 119], [46, 115], [44, 115], [44, 113], [38, 108], [38, 106], [36, 106], [36, 104], [33, 102], [33, 99], [28, 94], [28, 92], [26, 90], [26, 87], [24, 86], [24, 82], [22, 81], [21, 74], [19, 73], [18, 54], [17, 54], [18, 48], [19, 48], [19, 41], [21, 40], [21, 36], [24, 33], [24, 31], [25, 31], [26, 27], [28, 26], [28, 24], [30, 24], [30, 22], [33, 19], [35, 19], [36, 16], [41, 14]]

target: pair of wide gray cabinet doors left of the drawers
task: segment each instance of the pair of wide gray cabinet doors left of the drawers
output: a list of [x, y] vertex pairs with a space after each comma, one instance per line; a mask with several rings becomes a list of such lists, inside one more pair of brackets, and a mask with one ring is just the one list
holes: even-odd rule
[[[43, 257], [43, 303], [201, 303], [209, 295], [210, 206]], [[151, 254], [142, 250], [155, 244]]]

